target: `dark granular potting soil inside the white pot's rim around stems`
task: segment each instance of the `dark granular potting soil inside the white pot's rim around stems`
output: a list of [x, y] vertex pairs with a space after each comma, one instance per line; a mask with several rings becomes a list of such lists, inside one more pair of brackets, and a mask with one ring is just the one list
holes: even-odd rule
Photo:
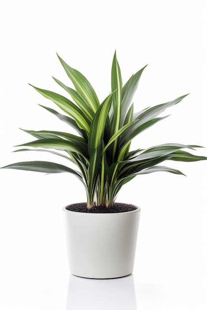
[[121, 204], [121, 203], [115, 203], [114, 206], [111, 208], [94, 206], [92, 207], [92, 209], [88, 209], [86, 203], [73, 204], [66, 207], [66, 209], [69, 211], [83, 212], [83, 213], [120, 213], [120, 212], [133, 211], [136, 210], [137, 208], [138, 207], [134, 205]]

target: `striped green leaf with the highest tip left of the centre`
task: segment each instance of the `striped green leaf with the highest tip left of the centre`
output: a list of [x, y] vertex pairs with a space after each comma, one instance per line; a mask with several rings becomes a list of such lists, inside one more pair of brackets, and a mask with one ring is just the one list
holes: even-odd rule
[[100, 103], [97, 95], [88, 82], [88, 80], [76, 69], [71, 68], [59, 55], [58, 58], [63, 65], [69, 79], [72, 81], [79, 96], [89, 104], [91, 110], [95, 113]]

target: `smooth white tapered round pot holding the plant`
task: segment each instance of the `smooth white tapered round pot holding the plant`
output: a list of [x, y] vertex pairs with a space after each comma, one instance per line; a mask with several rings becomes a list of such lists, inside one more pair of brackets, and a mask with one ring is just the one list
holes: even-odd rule
[[69, 270], [84, 278], [118, 278], [133, 272], [140, 208], [81, 213], [63, 208]]

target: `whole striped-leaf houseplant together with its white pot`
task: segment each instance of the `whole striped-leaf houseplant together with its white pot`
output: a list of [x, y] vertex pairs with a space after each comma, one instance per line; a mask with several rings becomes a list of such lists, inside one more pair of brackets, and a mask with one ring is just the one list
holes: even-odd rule
[[[69, 165], [26, 161], [3, 168], [75, 175], [85, 188], [87, 203], [64, 207], [70, 271], [88, 278], [125, 276], [133, 271], [140, 208], [115, 203], [122, 186], [139, 174], [156, 171], [183, 174], [177, 169], [159, 165], [165, 160], [188, 162], [207, 157], [186, 151], [199, 147], [195, 145], [163, 144], [147, 149], [130, 149], [132, 140], [139, 133], [166, 117], [157, 117], [161, 112], [181, 102], [187, 95], [134, 113], [132, 99], [145, 67], [133, 74], [123, 86], [115, 52], [111, 93], [100, 104], [88, 80], [58, 57], [75, 89], [56, 78], [54, 80], [71, 100], [33, 87], [53, 101], [64, 114], [42, 107], [66, 122], [77, 134], [24, 130], [36, 140], [19, 145], [22, 149], [17, 151], [50, 152], [67, 159]], [[71, 162], [77, 170], [70, 167]]]

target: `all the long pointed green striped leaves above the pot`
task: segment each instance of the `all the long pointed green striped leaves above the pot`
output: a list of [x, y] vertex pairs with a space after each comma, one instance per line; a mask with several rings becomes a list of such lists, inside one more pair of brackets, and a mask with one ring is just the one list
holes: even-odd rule
[[63, 156], [69, 163], [74, 163], [78, 170], [48, 161], [17, 162], [3, 168], [72, 173], [83, 183], [87, 206], [92, 208], [94, 205], [112, 207], [122, 186], [139, 174], [156, 171], [183, 174], [179, 170], [158, 165], [162, 161], [207, 159], [184, 151], [199, 147], [192, 145], [163, 144], [130, 150], [132, 140], [139, 133], [164, 119], [166, 116], [157, 116], [166, 108], [181, 102], [187, 95], [134, 113], [132, 100], [145, 67], [133, 74], [123, 85], [115, 52], [111, 70], [111, 93], [100, 104], [89, 81], [58, 57], [74, 89], [55, 78], [54, 80], [70, 95], [72, 101], [52, 91], [33, 87], [53, 101], [65, 114], [46, 106], [42, 107], [74, 128], [77, 135], [58, 131], [25, 130], [36, 140], [19, 145], [18, 147], [24, 148], [17, 151], [45, 151]]

